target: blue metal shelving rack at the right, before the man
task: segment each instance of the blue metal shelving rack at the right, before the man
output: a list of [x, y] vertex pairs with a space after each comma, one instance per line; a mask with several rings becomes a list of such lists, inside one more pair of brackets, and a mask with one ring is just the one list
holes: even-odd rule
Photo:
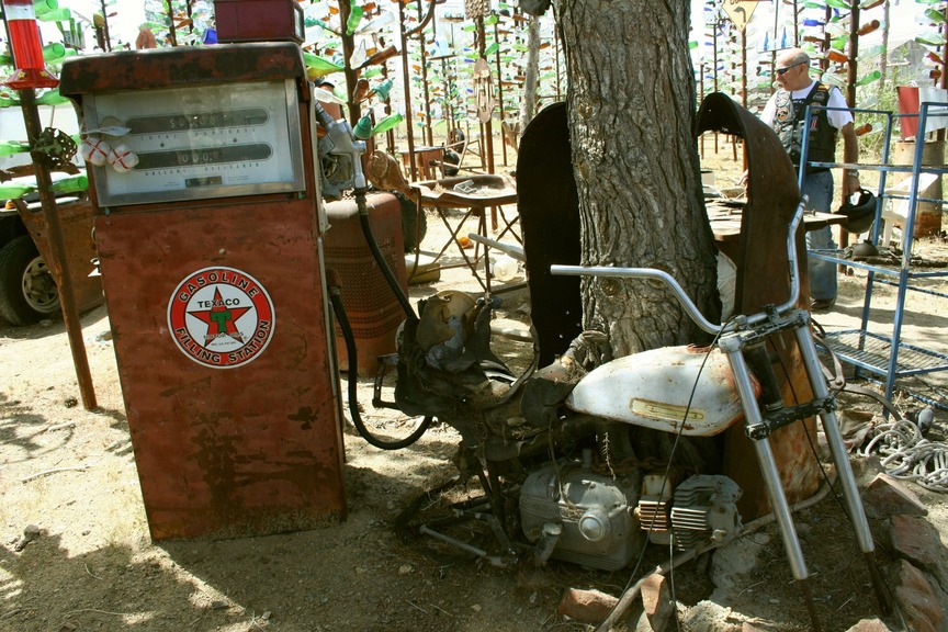
[[[806, 109], [805, 129], [810, 128], [813, 111], [830, 110], [828, 108], [811, 106]], [[826, 332], [826, 343], [845, 362], [853, 364], [857, 370], [866, 371], [878, 376], [878, 381], [884, 386], [887, 398], [892, 397], [895, 381], [900, 377], [922, 375], [948, 370], [948, 356], [910, 345], [902, 339], [902, 325], [905, 318], [905, 296], [909, 291], [922, 292], [941, 298], [948, 298], [948, 294], [936, 292], [926, 287], [913, 285], [913, 281], [925, 278], [948, 276], [948, 270], [918, 271], [913, 270], [912, 246], [914, 241], [915, 212], [918, 202], [937, 202], [941, 200], [929, 200], [918, 195], [918, 177], [921, 173], [948, 173], [948, 167], [930, 167], [922, 165], [924, 143], [916, 143], [915, 156], [912, 165], [890, 165], [889, 146], [894, 120], [899, 116], [892, 112], [878, 110], [851, 110], [854, 115], [869, 114], [879, 115], [885, 120], [884, 140], [882, 146], [881, 163], [845, 163], [845, 162], [817, 162], [808, 161], [809, 135], [805, 135], [801, 147], [801, 165], [810, 167], [859, 169], [861, 171], [878, 171], [879, 188], [877, 191], [876, 222], [872, 225], [870, 239], [873, 245], [879, 245], [881, 228], [882, 207], [885, 200], [907, 200], [909, 212], [902, 229], [902, 257], [898, 267], [874, 266], [859, 261], [853, 261], [844, 257], [843, 250], [809, 250], [808, 255], [815, 259], [842, 263], [849, 268], [866, 270], [866, 293], [862, 304], [862, 316], [858, 329]], [[929, 115], [937, 112], [938, 116], [948, 115], [946, 103], [922, 103], [918, 113], [918, 131], [916, 138], [925, 138], [926, 123]], [[929, 114], [932, 113], [932, 114]], [[806, 169], [800, 170], [800, 187], [802, 188], [806, 177]], [[899, 195], [885, 193], [885, 179], [889, 173], [900, 172], [911, 174], [911, 185], [907, 194]], [[892, 321], [891, 335], [881, 335], [868, 330], [869, 311], [872, 302], [872, 290], [876, 283], [888, 284], [898, 287], [895, 298], [895, 311]], [[922, 399], [929, 405], [946, 408], [944, 403], [932, 402], [924, 396], [910, 393], [913, 397]]]

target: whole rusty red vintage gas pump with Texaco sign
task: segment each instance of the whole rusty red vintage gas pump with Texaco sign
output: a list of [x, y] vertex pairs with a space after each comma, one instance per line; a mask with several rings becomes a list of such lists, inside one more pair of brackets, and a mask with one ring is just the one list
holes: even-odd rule
[[293, 43], [63, 67], [155, 540], [345, 517], [312, 90]]

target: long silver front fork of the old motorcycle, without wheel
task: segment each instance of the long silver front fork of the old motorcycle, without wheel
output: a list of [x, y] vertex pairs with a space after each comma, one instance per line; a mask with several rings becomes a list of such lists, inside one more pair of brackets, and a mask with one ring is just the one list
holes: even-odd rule
[[[782, 402], [776, 399], [776, 397], [779, 397], [779, 393], [775, 393], [777, 390], [775, 387], [776, 379], [772, 374], [772, 365], [769, 361], [761, 362], [760, 354], [766, 354], [766, 339], [782, 331], [793, 331], [803, 366], [806, 371], [810, 388], [813, 393], [811, 402], [794, 406], [783, 406]], [[744, 409], [745, 431], [747, 437], [754, 441], [757, 462], [764, 476], [770, 505], [780, 530], [780, 537], [783, 540], [783, 549], [787, 552], [793, 578], [803, 591], [814, 632], [819, 632], [821, 627], [813, 602], [813, 594], [808, 580], [806, 562], [803, 560], [800, 540], [797, 537], [793, 519], [790, 516], [790, 507], [787, 504], [787, 496], [780, 483], [777, 462], [774, 459], [774, 452], [770, 449], [768, 440], [770, 432], [777, 428], [814, 415], [820, 417], [823, 430], [826, 433], [826, 441], [830, 445], [830, 452], [836, 465], [836, 472], [843, 490], [846, 511], [849, 515], [849, 521], [853, 524], [859, 548], [869, 567], [869, 575], [872, 578], [872, 587], [876, 591], [880, 610], [883, 613], [888, 613], [890, 608], [889, 599], [882, 577], [879, 574], [879, 568], [876, 565], [876, 548], [872, 542], [872, 534], [869, 531], [869, 522], [866, 519], [862, 500], [856, 487], [856, 477], [853, 475], [853, 470], [849, 466], [849, 458], [846, 453], [843, 435], [839, 431], [839, 425], [836, 419], [835, 397], [830, 394], [830, 388], [821, 371], [820, 360], [816, 357], [816, 346], [810, 332], [810, 314], [803, 309], [795, 309], [783, 316], [775, 315], [760, 325], [723, 335], [719, 341], [719, 346], [727, 356], [731, 364], [734, 382], [741, 396], [741, 405]], [[763, 384], [763, 393], [759, 400], [754, 394], [748, 360]]]

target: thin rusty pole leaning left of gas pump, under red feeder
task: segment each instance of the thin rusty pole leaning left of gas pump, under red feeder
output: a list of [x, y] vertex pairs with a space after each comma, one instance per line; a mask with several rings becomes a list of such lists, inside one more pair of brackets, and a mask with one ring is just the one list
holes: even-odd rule
[[[26, 124], [26, 138], [30, 146], [36, 144], [42, 124], [40, 122], [40, 110], [36, 108], [36, 91], [33, 89], [20, 91], [20, 103], [23, 110], [23, 121]], [[56, 207], [56, 195], [50, 190], [53, 181], [49, 171], [43, 165], [42, 156], [33, 155], [33, 165], [36, 172], [36, 188], [40, 193], [40, 203], [46, 223], [49, 225], [49, 246], [53, 250], [54, 261], [50, 261], [53, 270], [58, 270], [60, 278], [56, 284], [59, 290], [59, 303], [63, 307], [63, 319], [66, 323], [66, 332], [69, 336], [69, 347], [72, 350], [72, 364], [76, 366], [76, 379], [79, 381], [79, 392], [82, 395], [82, 406], [87, 410], [97, 408], [95, 390], [92, 386], [92, 375], [89, 372], [89, 359], [86, 357], [86, 347], [82, 342], [82, 324], [76, 307], [76, 294], [72, 291], [72, 278], [69, 274], [69, 263], [66, 259], [66, 246], [63, 241], [63, 225], [59, 222], [59, 210]]]

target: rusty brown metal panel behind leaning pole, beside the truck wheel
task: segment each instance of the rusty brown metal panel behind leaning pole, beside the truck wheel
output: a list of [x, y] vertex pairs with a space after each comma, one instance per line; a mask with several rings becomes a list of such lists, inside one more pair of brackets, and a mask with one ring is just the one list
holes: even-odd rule
[[[97, 257], [95, 244], [92, 238], [94, 211], [88, 199], [58, 204], [57, 210], [63, 229], [63, 245], [67, 255], [67, 268], [76, 295], [76, 307], [79, 312], [86, 312], [101, 305], [104, 301], [102, 280], [98, 274], [90, 276], [90, 273], [95, 271], [93, 260]], [[23, 219], [26, 230], [30, 232], [33, 242], [36, 244], [40, 255], [49, 264], [56, 284], [61, 286], [63, 269], [53, 256], [46, 216], [38, 208], [29, 210], [25, 204], [18, 204], [16, 211], [20, 213], [20, 218]]]

